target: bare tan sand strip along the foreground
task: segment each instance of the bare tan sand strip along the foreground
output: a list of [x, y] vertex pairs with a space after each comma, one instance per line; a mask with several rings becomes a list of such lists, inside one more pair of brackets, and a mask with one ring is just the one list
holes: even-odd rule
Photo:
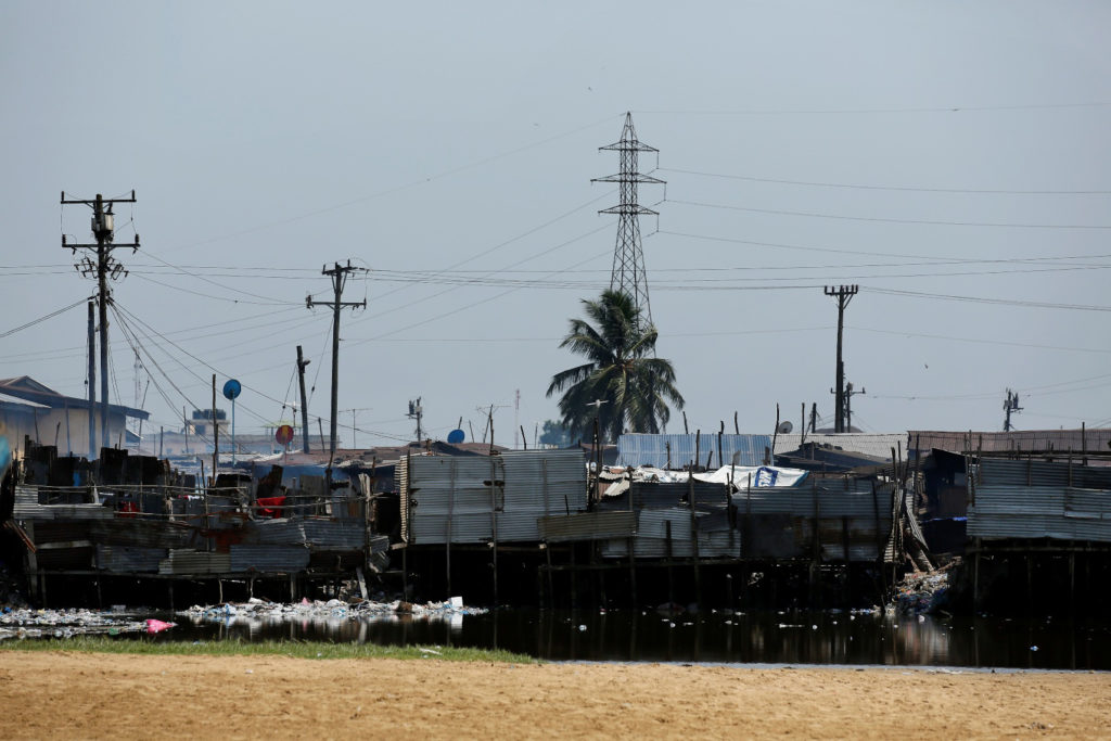
[[1111, 737], [1111, 674], [0, 653], [0, 738]]

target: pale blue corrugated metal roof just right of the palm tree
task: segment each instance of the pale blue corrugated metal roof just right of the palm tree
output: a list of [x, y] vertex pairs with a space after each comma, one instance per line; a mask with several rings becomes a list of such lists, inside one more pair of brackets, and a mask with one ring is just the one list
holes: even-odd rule
[[[719, 465], [733, 462], [738, 465], [760, 465], [764, 462], [764, 449], [771, 450], [768, 434], [722, 434], [721, 460], [718, 455], [718, 433], [693, 434], [622, 434], [618, 438], [618, 465], [651, 465], [682, 468], [694, 459], [695, 443], [699, 464], [705, 465], [707, 455], [712, 451]], [[669, 454], [670, 448], [670, 454]]]

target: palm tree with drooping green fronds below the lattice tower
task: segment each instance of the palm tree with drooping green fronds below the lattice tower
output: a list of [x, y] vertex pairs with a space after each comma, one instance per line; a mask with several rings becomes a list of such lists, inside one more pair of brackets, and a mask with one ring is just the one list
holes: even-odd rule
[[[668, 402], [683, 407], [671, 361], [654, 357], [655, 327], [644, 326], [632, 299], [609, 290], [583, 299], [590, 320], [572, 319], [559, 347], [588, 362], [552, 377], [548, 395], [563, 391], [559, 410], [574, 439], [589, 439], [598, 417], [603, 440], [625, 430], [659, 432], [671, 418]], [[565, 389], [565, 391], [564, 391]]]

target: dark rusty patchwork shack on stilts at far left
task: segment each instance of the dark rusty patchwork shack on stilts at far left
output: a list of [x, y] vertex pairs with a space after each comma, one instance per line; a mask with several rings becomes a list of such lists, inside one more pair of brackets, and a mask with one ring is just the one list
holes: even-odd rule
[[[54, 463], [73, 468], [52, 455], [29, 460], [42, 481], [57, 479]], [[96, 484], [17, 484], [8, 530], [23, 541], [31, 593], [43, 603], [48, 579], [94, 582], [98, 595], [113, 578], [161, 579], [172, 602], [174, 581], [214, 581], [222, 599], [224, 580], [250, 593], [256, 581], [288, 580], [292, 597], [308, 583], [386, 567], [389, 538], [372, 532], [369, 489], [356, 482], [329, 491], [304, 477], [306, 488], [290, 491], [277, 483], [280, 468], [268, 475], [171, 485], [166, 481], [177, 479], [166, 467], [113, 451], [102, 457]]]

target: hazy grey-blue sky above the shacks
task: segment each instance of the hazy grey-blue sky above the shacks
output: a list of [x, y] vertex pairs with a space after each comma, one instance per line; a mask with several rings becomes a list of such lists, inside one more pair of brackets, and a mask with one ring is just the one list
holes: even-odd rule
[[609, 287], [591, 179], [630, 111], [692, 432], [770, 433], [777, 403], [832, 424], [839, 284], [854, 425], [999, 430], [1008, 389], [1017, 429], [1111, 425], [1109, 28], [1101, 1], [6, 2], [0, 377], [87, 394], [94, 282], [61, 236], [93, 241], [90, 211], [59, 197], [133, 189], [111, 400], [151, 427], [213, 373], [240, 431], [293, 421], [300, 344], [327, 430], [306, 297], [350, 260], [342, 443], [411, 439], [418, 397], [434, 438], [492, 405], [531, 443]]

